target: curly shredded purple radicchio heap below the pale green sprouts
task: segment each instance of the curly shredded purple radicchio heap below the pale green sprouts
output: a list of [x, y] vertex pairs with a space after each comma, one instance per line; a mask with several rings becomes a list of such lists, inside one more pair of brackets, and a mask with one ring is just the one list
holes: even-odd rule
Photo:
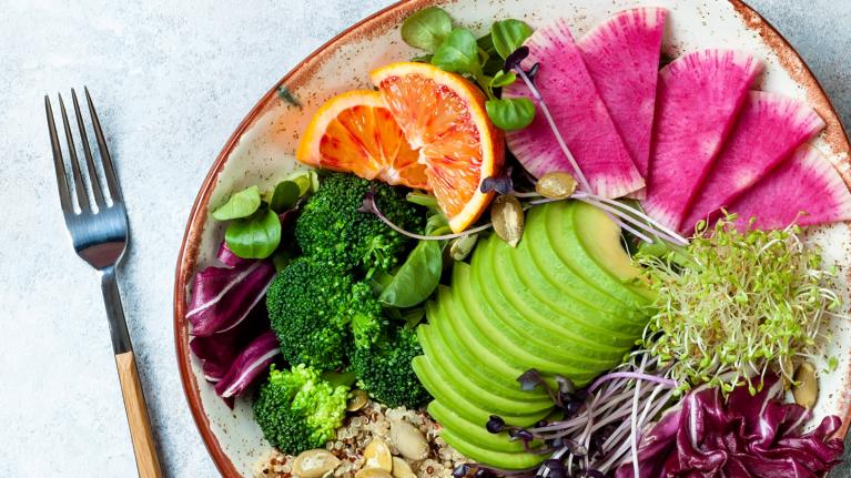
[[[844, 449], [840, 438], [831, 438], [840, 418], [824, 417], [815, 429], [802, 433], [809, 410], [781, 401], [781, 395], [777, 377], [766, 377], [754, 396], [748, 387], [737, 388], [727, 403], [717, 388], [693, 390], [641, 437], [641, 478], [822, 476]], [[615, 476], [632, 478], [632, 464], [624, 464]]]

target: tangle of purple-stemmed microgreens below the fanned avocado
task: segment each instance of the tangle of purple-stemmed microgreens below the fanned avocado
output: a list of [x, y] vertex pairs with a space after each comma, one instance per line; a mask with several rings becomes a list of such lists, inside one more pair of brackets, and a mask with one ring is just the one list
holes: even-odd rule
[[[606, 476], [630, 451], [637, 462], [641, 430], [669, 406], [680, 385], [671, 378], [671, 366], [646, 350], [631, 353], [622, 365], [584, 389], [567, 378], [555, 379], [551, 386], [538, 370], [529, 369], [517, 382], [524, 390], [544, 388], [564, 410], [561, 419], [527, 428], [505, 424], [497, 416], [488, 421], [488, 430], [508, 431], [513, 440], [527, 445], [527, 451], [550, 454], [534, 472], [540, 478]], [[543, 444], [533, 448], [529, 444], [536, 440]]]

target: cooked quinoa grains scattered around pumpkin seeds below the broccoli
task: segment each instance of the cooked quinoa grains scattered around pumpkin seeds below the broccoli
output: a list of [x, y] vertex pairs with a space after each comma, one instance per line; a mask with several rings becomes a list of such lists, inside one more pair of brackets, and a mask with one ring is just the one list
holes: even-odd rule
[[[405, 420], [423, 433], [429, 446], [426, 459], [412, 461], [399, 455], [391, 439], [391, 423], [396, 420]], [[341, 461], [340, 466], [326, 476], [354, 478], [364, 465], [364, 448], [373, 438], [381, 438], [389, 446], [394, 457], [407, 461], [417, 478], [449, 478], [453, 469], [467, 462], [467, 459], [440, 438], [439, 431], [440, 425], [424, 410], [387, 408], [376, 401], [368, 401], [364, 408], [346, 417], [343, 426], [337, 429], [336, 438], [325, 444], [325, 449]], [[255, 464], [254, 477], [297, 478], [292, 474], [293, 461], [295, 456], [272, 449]]]

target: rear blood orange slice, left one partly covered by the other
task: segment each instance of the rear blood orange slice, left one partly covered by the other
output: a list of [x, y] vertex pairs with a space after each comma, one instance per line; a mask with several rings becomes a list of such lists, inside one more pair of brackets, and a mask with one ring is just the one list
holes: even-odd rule
[[320, 108], [295, 153], [312, 166], [430, 190], [425, 165], [376, 91], [338, 94]]

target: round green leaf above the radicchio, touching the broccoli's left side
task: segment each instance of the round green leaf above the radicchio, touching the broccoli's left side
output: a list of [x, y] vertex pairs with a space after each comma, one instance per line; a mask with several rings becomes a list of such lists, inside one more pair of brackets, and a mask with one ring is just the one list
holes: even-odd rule
[[281, 244], [281, 220], [267, 209], [227, 225], [224, 241], [242, 258], [266, 258]]

